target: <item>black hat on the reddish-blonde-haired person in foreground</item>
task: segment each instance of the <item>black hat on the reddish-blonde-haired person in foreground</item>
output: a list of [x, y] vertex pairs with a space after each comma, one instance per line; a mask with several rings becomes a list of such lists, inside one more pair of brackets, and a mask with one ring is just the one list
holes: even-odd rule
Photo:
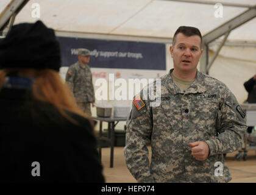
[[60, 69], [60, 45], [54, 30], [41, 21], [21, 23], [12, 27], [0, 40], [0, 69]]

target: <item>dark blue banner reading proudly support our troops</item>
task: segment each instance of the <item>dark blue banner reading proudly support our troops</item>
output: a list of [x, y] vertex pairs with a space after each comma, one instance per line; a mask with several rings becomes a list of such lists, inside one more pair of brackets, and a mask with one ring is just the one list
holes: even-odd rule
[[77, 62], [77, 48], [87, 48], [91, 52], [91, 68], [166, 69], [163, 43], [71, 37], [57, 39], [62, 52], [62, 66]]

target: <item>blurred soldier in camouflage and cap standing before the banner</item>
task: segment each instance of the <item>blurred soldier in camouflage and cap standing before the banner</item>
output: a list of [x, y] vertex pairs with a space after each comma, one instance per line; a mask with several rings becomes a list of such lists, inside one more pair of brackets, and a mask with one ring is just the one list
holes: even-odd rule
[[91, 115], [91, 103], [94, 107], [95, 96], [90, 62], [90, 51], [78, 49], [79, 61], [69, 66], [66, 73], [66, 83], [76, 98], [77, 105], [88, 115]]

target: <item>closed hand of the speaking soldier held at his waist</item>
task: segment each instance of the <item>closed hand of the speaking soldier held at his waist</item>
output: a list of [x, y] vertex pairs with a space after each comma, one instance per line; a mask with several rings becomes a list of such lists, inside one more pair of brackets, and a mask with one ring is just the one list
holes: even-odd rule
[[205, 141], [196, 141], [189, 143], [191, 152], [194, 158], [199, 161], [204, 161], [209, 155], [209, 146]]

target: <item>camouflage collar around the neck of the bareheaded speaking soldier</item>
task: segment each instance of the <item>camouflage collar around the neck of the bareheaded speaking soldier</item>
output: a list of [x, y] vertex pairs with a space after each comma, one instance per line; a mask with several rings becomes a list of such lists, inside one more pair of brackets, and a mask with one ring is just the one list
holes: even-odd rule
[[[169, 92], [171, 94], [177, 94], [177, 93], [184, 93], [180, 90], [179, 87], [174, 83], [171, 77], [171, 73], [174, 70], [172, 68], [169, 71], [169, 74], [166, 74], [165, 79], [162, 79], [161, 82], [163, 82], [163, 85], [165, 85]], [[204, 75], [200, 73], [199, 71], [196, 72], [196, 80], [191, 84], [191, 86], [188, 88], [188, 90], [185, 93], [202, 93], [206, 91], [206, 85], [204, 82]]]

